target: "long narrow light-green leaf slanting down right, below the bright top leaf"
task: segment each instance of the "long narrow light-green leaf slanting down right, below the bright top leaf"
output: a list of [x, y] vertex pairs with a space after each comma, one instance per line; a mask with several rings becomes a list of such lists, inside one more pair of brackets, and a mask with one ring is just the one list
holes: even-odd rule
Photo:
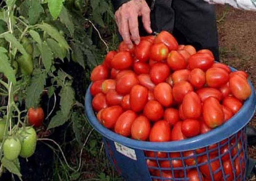
[[61, 46], [63, 46], [65, 49], [68, 50], [70, 48], [65, 38], [53, 26], [47, 23], [43, 23], [41, 25], [38, 25], [38, 27], [43, 31], [46, 31], [54, 40], [60, 43]]

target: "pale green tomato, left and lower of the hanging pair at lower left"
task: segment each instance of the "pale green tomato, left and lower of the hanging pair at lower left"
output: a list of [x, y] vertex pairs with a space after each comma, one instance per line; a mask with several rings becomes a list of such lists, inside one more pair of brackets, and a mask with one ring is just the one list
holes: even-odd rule
[[4, 157], [8, 160], [15, 160], [21, 152], [21, 142], [18, 138], [8, 137], [3, 144]]

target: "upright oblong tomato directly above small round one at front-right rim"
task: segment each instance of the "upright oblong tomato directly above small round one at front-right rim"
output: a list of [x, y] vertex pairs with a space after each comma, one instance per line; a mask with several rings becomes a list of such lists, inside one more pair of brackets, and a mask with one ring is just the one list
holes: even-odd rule
[[185, 118], [198, 119], [201, 116], [201, 100], [195, 92], [187, 93], [182, 101], [182, 110]]

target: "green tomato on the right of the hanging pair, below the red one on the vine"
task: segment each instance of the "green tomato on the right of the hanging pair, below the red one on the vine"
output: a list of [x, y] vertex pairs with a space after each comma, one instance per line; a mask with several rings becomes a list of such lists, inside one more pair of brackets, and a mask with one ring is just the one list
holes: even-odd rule
[[32, 156], [36, 149], [36, 131], [32, 127], [26, 127], [18, 131], [21, 136], [21, 152], [19, 156], [28, 158]]

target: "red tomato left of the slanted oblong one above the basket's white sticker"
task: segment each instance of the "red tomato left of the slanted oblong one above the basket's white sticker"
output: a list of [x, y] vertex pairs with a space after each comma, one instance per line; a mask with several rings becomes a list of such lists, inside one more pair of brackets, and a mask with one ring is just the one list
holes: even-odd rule
[[122, 114], [123, 110], [121, 106], [111, 106], [107, 107], [102, 111], [101, 114], [101, 119], [102, 119], [102, 124], [106, 128], [114, 128], [115, 122], [119, 118], [119, 116]]

